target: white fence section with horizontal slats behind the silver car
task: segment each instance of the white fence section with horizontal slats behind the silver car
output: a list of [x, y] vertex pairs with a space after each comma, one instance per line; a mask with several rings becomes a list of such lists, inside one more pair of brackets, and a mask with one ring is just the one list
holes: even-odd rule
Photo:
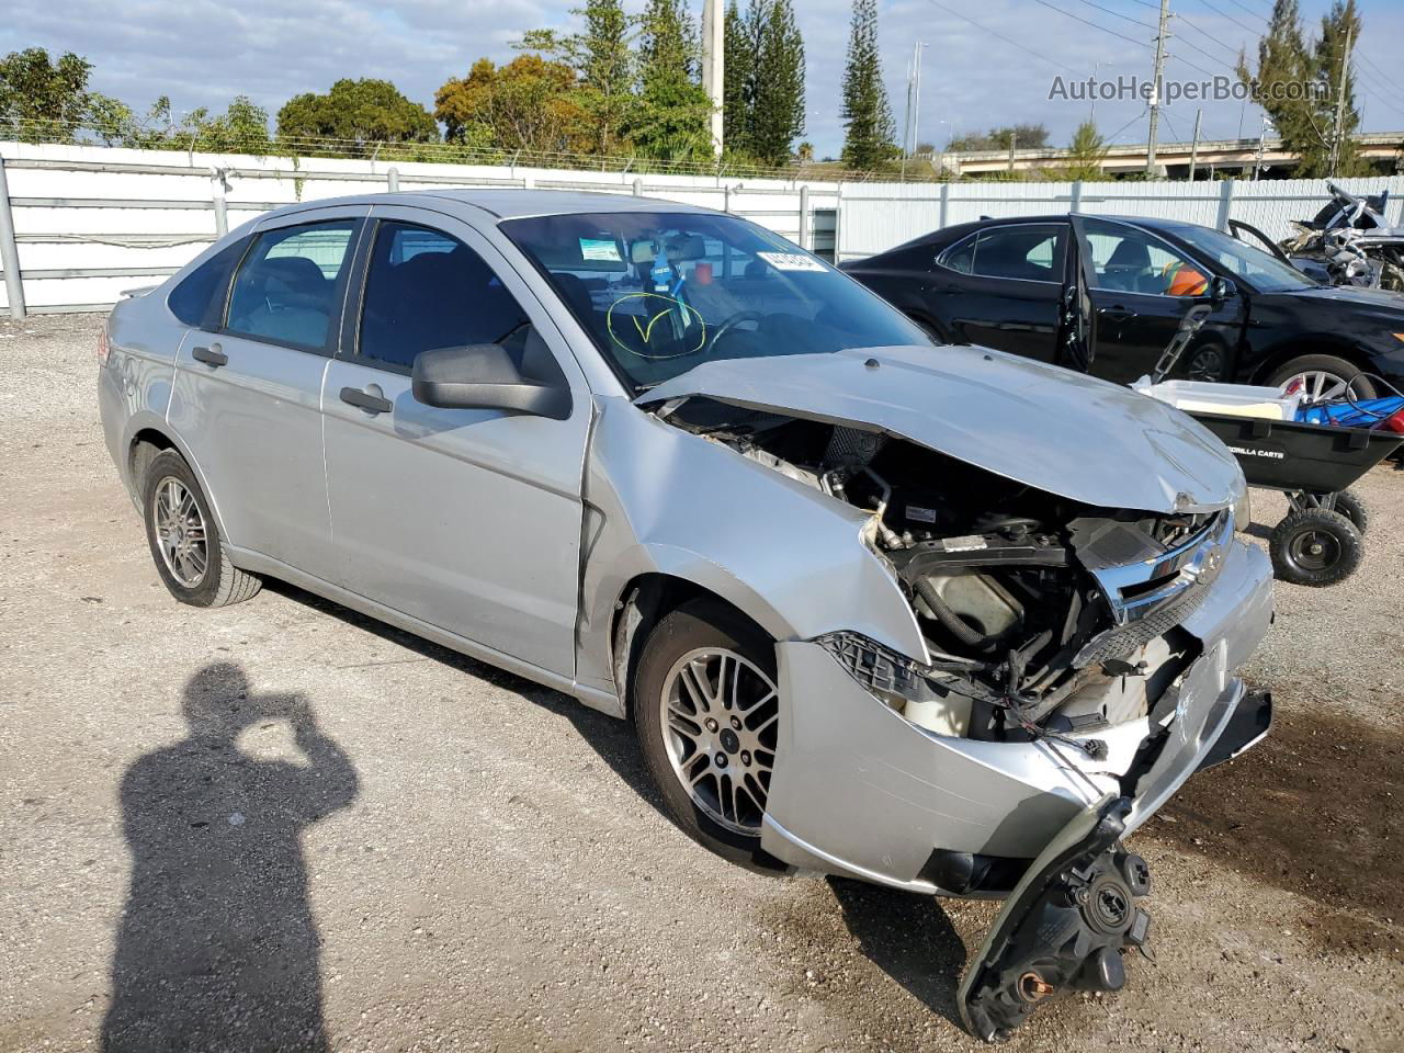
[[[385, 190], [536, 187], [635, 194], [729, 211], [833, 258], [837, 183], [552, 168], [249, 157], [0, 143], [7, 227], [29, 312], [102, 310], [160, 282], [219, 230], [296, 201]], [[213, 176], [223, 173], [223, 180]], [[7, 184], [7, 187], [6, 187]], [[3, 195], [8, 194], [8, 209]], [[8, 220], [8, 222], [7, 222]], [[10, 275], [7, 275], [8, 278]], [[0, 310], [10, 307], [6, 281]], [[15, 312], [11, 312], [15, 313]]]

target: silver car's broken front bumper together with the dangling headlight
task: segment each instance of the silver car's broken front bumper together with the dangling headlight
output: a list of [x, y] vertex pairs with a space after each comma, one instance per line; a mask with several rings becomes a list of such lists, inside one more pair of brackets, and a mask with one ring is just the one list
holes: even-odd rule
[[1095, 761], [1047, 739], [927, 731], [879, 703], [823, 644], [782, 643], [778, 754], [797, 762], [775, 769], [761, 845], [802, 869], [1004, 897], [958, 997], [966, 1026], [987, 1042], [1050, 995], [1119, 990], [1123, 953], [1146, 951], [1150, 931], [1148, 870], [1122, 838], [1195, 771], [1266, 734], [1271, 696], [1233, 674], [1271, 621], [1266, 556], [1230, 542], [1181, 623], [1199, 658], [1147, 716], [1098, 730], [1106, 750]]

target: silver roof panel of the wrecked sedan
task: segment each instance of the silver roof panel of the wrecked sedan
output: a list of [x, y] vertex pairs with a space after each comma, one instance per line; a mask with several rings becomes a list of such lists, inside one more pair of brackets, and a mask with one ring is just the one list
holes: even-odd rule
[[702, 212], [715, 213], [715, 209], [698, 205], [684, 205], [677, 201], [663, 198], [636, 197], [621, 190], [618, 194], [608, 191], [581, 190], [515, 190], [515, 188], [479, 188], [479, 187], [451, 187], [444, 190], [406, 190], [397, 192], [357, 194], [341, 198], [319, 198], [303, 201], [296, 205], [285, 205], [267, 215], [295, 215], [309, 209], [336, 208], [337, 205], [421, 205], [444, 211], [445, 204], [473, 208], [487, 212], [496, 219], [522, 219], [526, 216], [569, 216], [578, 213], [598, 212]]

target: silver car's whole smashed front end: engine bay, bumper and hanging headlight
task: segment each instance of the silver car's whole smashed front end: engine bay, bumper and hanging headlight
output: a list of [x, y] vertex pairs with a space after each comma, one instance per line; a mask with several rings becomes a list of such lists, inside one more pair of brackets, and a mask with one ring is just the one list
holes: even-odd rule
[[776, 767], [765, 851], [1007, 899], [960, 995], [987, 1040], [1052, 994], [1118, 990], [1148, 931], [1144, 862], [1120, 838], [1271, 720], [1231, 675], [1271, 618], [1236, 510], [1091, 504], [847, 420], [709, 397], [656, 411], [868, 512], [862, 541], [925, 644], [776, 646], [778, 755], [802, 761]]

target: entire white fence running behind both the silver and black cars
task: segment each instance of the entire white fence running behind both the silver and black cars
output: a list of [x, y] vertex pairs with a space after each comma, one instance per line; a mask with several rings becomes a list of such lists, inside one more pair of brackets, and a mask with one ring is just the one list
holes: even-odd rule
[[[159, 282], [218, 232], [271, 208], [444, 187], [594, 190], [706, 205], [754, 219], [816, 253], [852, 260], [980, 216], [1154, 215], [1223, 229], [1243, 219], [1279, 239], [1325, 202], [1324, 180], [1221, 183], [796, 183], [512, 166], [249, 157], [0, 143], [0, 309], [101, 310]], [[215, 177], [222, 171], [223, 178]], [[8, 184], [8, 185], [6, 185]], [[1404, 225], [1404, 177], [1344, 180], [1389, 190]], [[10, 237], [13, 234], [13, 239]], [[21, 281], [22, 278], [22, 281]], [[22, 292], [11, 306], [10, 292]]]

